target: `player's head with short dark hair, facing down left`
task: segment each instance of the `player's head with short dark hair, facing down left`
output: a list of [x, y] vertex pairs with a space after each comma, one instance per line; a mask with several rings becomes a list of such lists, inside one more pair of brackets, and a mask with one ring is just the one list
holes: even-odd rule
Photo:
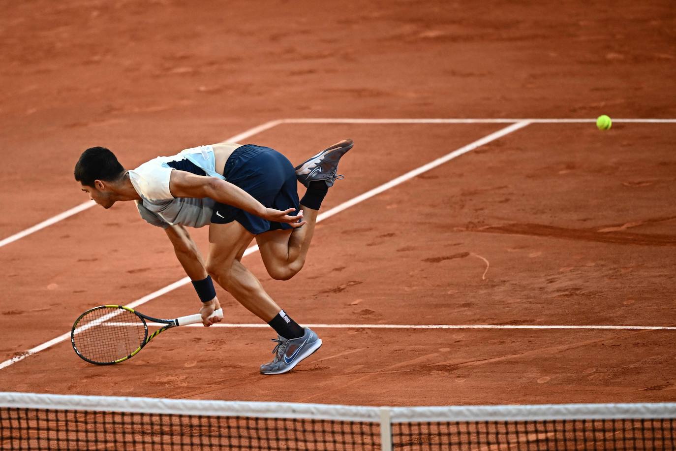
[[125, 173], [114, 153], [105, 147], [90, 147], [75, 164], [75, 180], [103, 208], [115, 204], [114, 185], [124, 179]]

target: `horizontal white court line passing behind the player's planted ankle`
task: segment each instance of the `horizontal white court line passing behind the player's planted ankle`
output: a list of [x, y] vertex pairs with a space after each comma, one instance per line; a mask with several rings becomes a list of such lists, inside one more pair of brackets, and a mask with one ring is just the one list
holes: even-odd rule
[[[137, 323], [107, 323], [110, 326], [138, 326]], [[149, 326], [166, 326], [162, 323], [147, 323]], [[502, 325], [502, 324], [305, 324], [313, 329], [606, 329], [612, 331], [676, 331], [676, 326], [595, 326], [595, 325]], [[183, 327], [204, 327], [201, 324], [189, 324]], [[270, 327], [259, 323], [216, 323], [211, 327], [233, 327], [258, 329]]]

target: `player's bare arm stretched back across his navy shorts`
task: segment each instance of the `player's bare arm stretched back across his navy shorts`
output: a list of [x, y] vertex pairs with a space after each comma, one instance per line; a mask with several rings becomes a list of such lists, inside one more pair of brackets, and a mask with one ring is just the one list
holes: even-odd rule
[[245, 212], [274, 222], [287, 222], [292, 227], [301, 227], [303, 212], [292, 215], [294, 209], [275, 210], [266, 208], [249, 193], [224, 180], [191, 174], [182, 170], [172, 170], [169, 179], [169, 191], [174, 197], [210, 197], [221, 204], [241, 208]]

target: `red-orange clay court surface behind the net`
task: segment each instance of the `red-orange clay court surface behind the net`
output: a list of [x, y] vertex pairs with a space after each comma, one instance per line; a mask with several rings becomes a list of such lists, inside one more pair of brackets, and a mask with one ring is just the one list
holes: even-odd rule
[[[0, 386], [360, 406], [675, 400], [675, 27], [667, 1], [7, 5]], [[57, 216], [87, 200], [72, 178], [84, 148], [134, 168], [232, 140], [299, 162], [346, 137], [304, 269], [273, 281], [256, 250], [243, 258], [324, 340], [291, 373], [258, 374], [274, 333], [219, 287], [231, 324], [168, 331], [122, 364], [50, 342], [99, 304], [199, 308], [189, 284], [165, 289], [185, 273], [133, 204]], [[191, 233], [205, 250], [206, 228]]]

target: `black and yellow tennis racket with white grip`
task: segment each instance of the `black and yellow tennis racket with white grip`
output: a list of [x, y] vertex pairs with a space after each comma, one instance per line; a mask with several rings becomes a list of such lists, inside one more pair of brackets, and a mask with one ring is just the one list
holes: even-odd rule
[[[219, 308], [210, 316], [223, 317]], [[165, 324], [148, 335], [145, 320]], [[139, 353], [149, 341], [176, 326], [202, 322], [201, 314], [176, 319], [158, 319], [125, 306], [99, 306], [87, 310], [75, 320], [70, 342], [76, 354], [89, 363], [112, 365], [124, 362]]]

